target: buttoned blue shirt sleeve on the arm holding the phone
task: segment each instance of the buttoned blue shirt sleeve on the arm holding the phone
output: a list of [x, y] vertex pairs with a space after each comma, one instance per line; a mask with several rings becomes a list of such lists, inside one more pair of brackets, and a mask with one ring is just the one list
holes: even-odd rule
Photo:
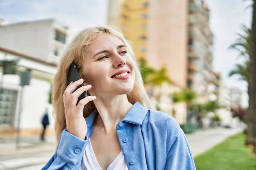
[[72, 170], [77, 163], [81, 162], [88, 140], [87, 136], [82, 140], [66, 129], [63, 130], [57, 150], [41, 170]]

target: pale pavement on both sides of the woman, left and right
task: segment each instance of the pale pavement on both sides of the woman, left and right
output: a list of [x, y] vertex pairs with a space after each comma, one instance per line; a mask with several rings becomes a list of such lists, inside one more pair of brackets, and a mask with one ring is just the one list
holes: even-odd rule
[[[241, 128], [218, 127], [186, 134], [186, 138], [195, 157], [240, 131]], [[23, 137], [22, 148], [16, 150], [15, 137], [0, 138], [0, 170], [41, 169], [56, 149], [55, 136], [47, 136], [46, 139], [46, 142], [40, 142], [38, 136]]]

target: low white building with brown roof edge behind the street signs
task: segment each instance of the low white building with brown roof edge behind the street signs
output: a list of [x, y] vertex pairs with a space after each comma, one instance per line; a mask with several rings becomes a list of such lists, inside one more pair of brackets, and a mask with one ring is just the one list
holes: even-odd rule
[[50, 128], [53, 132], [54, 119], [52, 117], [52, 105], [48, 103], [50, 83], [57, 70], [57, 65], [43, 59], [21, 54], [17, 51], [0, 47], [0, 61], [17, 61], [18, 70], [31, 69], [32, 79], [30, 85], [23, 88], [20, 98], [20, 77], [16, 74], [0, 73], [0, 135], [16, 133], [18, 125], [18, 113], [20, 101], [22, 112], [20, 119], [21, 134], [38, 134], [42, 128], [41, 118], [45, 109], [49, 109]]

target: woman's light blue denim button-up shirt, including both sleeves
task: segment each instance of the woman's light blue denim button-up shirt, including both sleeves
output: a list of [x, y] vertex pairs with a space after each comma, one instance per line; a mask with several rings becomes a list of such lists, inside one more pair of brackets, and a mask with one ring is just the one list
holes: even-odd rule
[[[62, 131], [54, 156], [42, 170], [79, 170], [97, 114], [86, 118], [85, 140]], [[129, 170], [195, 170], [189, 144], [172, 116], [136, 102], [116, 125], [116, 133]]]

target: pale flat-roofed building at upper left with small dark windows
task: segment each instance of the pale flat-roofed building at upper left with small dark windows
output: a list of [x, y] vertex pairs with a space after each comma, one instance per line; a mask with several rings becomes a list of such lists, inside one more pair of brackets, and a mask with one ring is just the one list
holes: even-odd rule
[[0, 46], [48, 62], [58, 63], [67, 40], [67, 26], [53, 19], [3, 25]]

